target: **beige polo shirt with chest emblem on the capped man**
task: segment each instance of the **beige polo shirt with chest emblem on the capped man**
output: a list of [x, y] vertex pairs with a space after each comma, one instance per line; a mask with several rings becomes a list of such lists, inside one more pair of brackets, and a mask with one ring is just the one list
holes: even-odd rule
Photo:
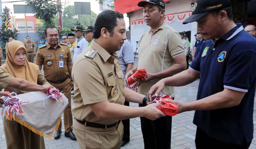
[[[166, 50], [166, 51], [165, 51]], [[167, 24], [162, 24], [155, 32], [147, 31], [139, 40], [138, 69], [157, 73], [171, 67], [174, 57], [184, 54], [184, 47], [179, 33]], [[163, 61], [164, 58], [164, 61]], [[162, 62], [163, 61], [163, 62]], [[160, 78], [141, 83], [138, 92], [146, 95]], [[174, 87], [165, 87], [163, 93], [174, 94]]]

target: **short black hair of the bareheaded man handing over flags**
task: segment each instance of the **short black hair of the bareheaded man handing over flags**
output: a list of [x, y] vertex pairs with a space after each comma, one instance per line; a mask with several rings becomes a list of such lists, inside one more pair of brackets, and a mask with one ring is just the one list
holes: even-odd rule
[[102, 11], [95, 22], [93, 38], [98, 39], [101, 36], [101, 29], [105, 27], [110, 32], [110, 36], [114, 33], [114, 27], [117, 26], [117, 18], [123, 18], [123, 15], [117, 11]]

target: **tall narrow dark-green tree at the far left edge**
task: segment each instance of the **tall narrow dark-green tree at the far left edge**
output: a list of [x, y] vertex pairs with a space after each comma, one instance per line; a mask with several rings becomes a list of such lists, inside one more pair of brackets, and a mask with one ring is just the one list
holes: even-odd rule
[[13, 27], [9, 27], [9, 24], [11, 24], [11, 18], [9, 17], [9, 9], [5, 6], [2, 13], [2, 27], [0, 29], [0, 40], [1, 40], [1, 47], [3, 49], [3, 53], [5, 55], [5, 44], [8, 42], [9, 37], [12, 37], [13, 39], [17, 38], [17, 30]]

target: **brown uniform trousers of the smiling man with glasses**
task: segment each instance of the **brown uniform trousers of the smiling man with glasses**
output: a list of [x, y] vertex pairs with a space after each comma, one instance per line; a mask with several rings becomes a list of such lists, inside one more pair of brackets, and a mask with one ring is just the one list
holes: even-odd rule
[[[71, 81], [68, 78], [65, 82], [62, 82], [60, 84], [55, 84], [51, 82], [49, 83], [53, 85], [56, 89], [59, 89], [60, 92], [62, 91], [62, 93], [64, 93], [66, 98], [68, 98], [69, 100], [69, 104], [64, 110], [64, 127], [65, 127], [65, 132], [72, 131], [73, 118], [71, 113]], [[62, 129], [62, 122], [60, 122], [58, 130], [61, 130], [61, 129]]]

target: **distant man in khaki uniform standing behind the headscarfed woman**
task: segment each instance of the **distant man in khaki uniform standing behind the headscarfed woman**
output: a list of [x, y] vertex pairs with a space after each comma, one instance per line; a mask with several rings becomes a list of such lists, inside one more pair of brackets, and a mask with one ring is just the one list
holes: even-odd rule
[[27, 50], [27, 60], [29, 62], [34, 62], [34, 56], [36, 55], [36, 46], [34, 42], [30, 40], [30, 36], [27, 36], [27, 41], [24, 42]]

